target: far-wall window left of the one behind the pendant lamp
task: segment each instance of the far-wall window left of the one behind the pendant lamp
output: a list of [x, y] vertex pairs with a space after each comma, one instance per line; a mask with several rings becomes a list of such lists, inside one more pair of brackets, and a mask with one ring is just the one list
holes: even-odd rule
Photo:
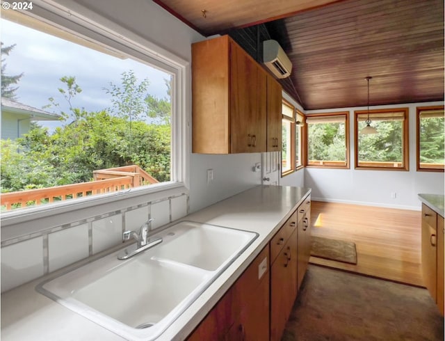
[[306, 116], [307, 166], [349, 168], [348, 113]]

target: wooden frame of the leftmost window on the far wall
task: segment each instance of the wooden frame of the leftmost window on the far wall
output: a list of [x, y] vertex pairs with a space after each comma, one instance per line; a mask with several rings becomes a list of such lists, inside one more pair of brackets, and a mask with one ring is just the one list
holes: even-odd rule
[[[335, 165], [334, 162], [324, 162], [324, 164], [309, 164], [309, 122], [310, 118], [323, 118], [332, 116], [345, 116], [345, 164]], [[350, 168], [350, 143], [349, 143], [349, 111], [338, 111], [332, 113], [312, 113], [306, 118], [305, 122], [305, 167], [307, 168], [334, 168], [334, 169], [349, 169]]]

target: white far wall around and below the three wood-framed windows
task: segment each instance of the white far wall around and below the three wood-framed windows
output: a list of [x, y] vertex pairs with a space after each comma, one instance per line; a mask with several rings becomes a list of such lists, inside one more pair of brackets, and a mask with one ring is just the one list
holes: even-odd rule
[[[370, 109], [409, 108], [410, 170], [355, 170], [354, 111], [365, 107], [306, 111], [323, 113], [349, 111], [350, 169], [305, 168], [305, 187], [312, 187], [312, 199], [360, 205], [420, 209], [418, 193], [444, 194], [444, 173], [416, 171], [416, 106], [443, 105], [444, 102], [372, 106]], [[391, 193], [396, 198], [391, 198]]]

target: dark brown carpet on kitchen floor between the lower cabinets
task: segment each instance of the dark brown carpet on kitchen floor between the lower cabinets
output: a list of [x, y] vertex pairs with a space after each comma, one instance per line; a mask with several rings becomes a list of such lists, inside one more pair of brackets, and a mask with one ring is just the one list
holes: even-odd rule
[[444, 340], [426, 289], [310, 265], [282, 341]]

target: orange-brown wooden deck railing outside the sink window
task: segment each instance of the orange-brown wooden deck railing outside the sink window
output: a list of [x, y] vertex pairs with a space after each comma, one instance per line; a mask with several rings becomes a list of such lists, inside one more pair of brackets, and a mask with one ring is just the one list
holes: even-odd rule
[[122, 191], [158, 182], [158, 180], [138, 166], [95, 170], [93, 173], [95, 180], [91, 182], [2, 193], [0, 197], [1, 209], [8, 211], [20, 207]]

